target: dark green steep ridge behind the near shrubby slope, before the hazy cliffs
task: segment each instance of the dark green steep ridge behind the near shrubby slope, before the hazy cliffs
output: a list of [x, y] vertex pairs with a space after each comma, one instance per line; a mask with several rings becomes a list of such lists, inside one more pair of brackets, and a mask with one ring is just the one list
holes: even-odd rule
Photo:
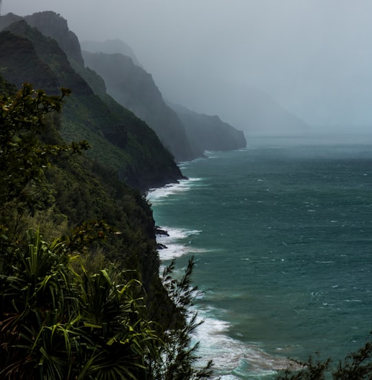
[[62, 114], [66, 140], [90, 141], [92, 158], [115, 168], [121, 179], [141, 190], [183, 178], [154, 131], [132, 112], [117, 103], [113, 110], [96, 96], [54, 39], [22, 20], [7, 29], [0, 34], [3, 77], [18, 87], [34, 80], [51, 93], [60, 86], [72, 89]]

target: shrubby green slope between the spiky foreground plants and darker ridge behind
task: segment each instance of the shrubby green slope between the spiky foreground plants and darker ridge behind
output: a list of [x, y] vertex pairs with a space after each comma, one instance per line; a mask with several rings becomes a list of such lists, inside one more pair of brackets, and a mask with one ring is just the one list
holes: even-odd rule
[[[24, 86], [15, 94], [14, 86], [0, 76], [1, 292], [6, 279], [4, 259], [8, 260], [10, 248], [22, 247], [25, 232], [34, 228], [45, 241], [61, 238], [72, 244], [89, 271], [109, 262], [116, 263], [118, 271], [127, 270], [128, 280], [139, 279], [143, 285], [137, 291], [149, 315], [162, 323], [171, 311], [158, 276], [149, 204], [138, 190], [120, 181], [114, 170], [63, 148], [68, 144], [59, 134], [60, 115], [45, 108], [42, 101], [35, 108], [32, 99], [39, 99], [40, 94], [28, 92], [29, 88]], [[46, 99], [45, 94], [41, 97]], [[59, 103], [58, 97], [54, 100]], [[37, 117], [38, 110], [45, 110], [47, 117]], [[4, 334], [0, 335], [3, 343]]]

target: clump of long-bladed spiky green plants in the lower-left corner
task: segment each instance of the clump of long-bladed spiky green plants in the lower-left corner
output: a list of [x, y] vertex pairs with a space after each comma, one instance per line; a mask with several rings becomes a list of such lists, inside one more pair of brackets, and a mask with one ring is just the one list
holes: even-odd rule
[[63, 240], [29, 230], [27, 243], [1, 271], [1, 379], [147, 379], [158, 339], [132, 297], [139, 284], [114, 266], [78, 274]]

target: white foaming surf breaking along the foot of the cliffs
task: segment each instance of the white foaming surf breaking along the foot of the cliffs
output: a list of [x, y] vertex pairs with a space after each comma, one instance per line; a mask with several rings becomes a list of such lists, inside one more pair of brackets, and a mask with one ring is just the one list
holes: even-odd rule
[[[149, 201], [152, 203], [152, 210], [156, 213], [156, 207], [161, 207], [161, 203], [167, 202], [172, 197], [182, 196], [183, 192], [192, 189], [193, 183], [200, 182], [200, 178], [190, 178], [179, 183], [168, 184], [162, 188], [152, 189], [149, 192]], [[155, 210], [154, 210], [155, 208]], [[203, 254], [207, 250], [192, 245], [192, 240], [202, 230], [189, 230], [163, 226], [158, 223], [156, 217], [156, 242], [161, 249], [158, 250], [161, 265], [172, 259], [189, 257], [192, 254]], [[240, 379], [275, 379], [278, 370], [287, 368], [290, 361], [287, 357], [273, 356], [262, 348], [260, 343], [247, 344], [240, 341], [238, 337], [231, 337], [229, 334], [229, 322], [218, 319], [218, 310], [196, 302], [194, 306], [198, 312], [199, 320], [204, 323], [198, 327], [194, 336], [194, 343], [200, 342], [198, 354], [202, 360], [212, 359], [216, 377], [221, 380]]]

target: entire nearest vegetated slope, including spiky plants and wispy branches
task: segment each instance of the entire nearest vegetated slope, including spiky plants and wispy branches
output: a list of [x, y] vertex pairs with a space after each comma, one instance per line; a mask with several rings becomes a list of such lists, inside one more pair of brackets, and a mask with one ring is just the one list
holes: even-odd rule
[[145, 199], [61, 139], [70, 91], [0, 84], [1, 379], [207, 377], [189, 346], [191, 270], [161, 282]]

